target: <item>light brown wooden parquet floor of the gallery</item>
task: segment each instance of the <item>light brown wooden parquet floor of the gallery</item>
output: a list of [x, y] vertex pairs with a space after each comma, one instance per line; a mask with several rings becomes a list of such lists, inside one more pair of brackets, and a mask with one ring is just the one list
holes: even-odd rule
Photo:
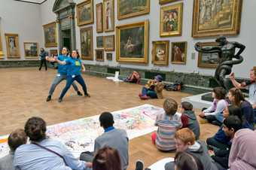
[[[162, 107], [164, 99], [142, 101], [138, 94], [141, 85], [130, 83], [114, 83], [101, 77], [84, 74], [91, 98], [77, 96], [71, 89], [62, 103], [57, 102], [59, 94], [66, 82], [56, 88], [51, 102], [45, 102], [50, 84], [56, 70], [38, 71], [38, 68], [1, 68], [0, 69], [0, 135], [6, 135], [13, 129], [23, 128], [29, 117], [38, 116], [46, 120], [47, 125], [76, 120], [101, 114], [102, 111], [118, 111], [145, 103]], [[81, 90], [81, 87], [79, 87]], [[172, 97], [178, 103], [181, 98], [190, 96], [187, 93], [164, 91], [165, 98]], [[197, 111], [197, 114], [199, 111]], [[203, 124], [200, 139], [212, 136], [217, 126]], [[130, 167], [133, 170], [136, 159], [142, 159], [145, 165], [151, 165], [174, 153], [162, 153], [151, 144], [150, 134], [134, 138], [130, 141]]]

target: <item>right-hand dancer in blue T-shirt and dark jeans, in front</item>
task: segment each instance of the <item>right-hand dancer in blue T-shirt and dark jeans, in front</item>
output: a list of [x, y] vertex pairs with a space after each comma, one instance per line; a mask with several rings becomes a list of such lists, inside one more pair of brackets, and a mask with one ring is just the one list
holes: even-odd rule
[[64, 61], [60, 61], [58, 58], [55, 58], [56, 62], [59, 62], [60, 65], [67, 65], [67, 83], [66, 87], [62, 90], [61, 95], [59, 96], [59, 102], [62, 102], [63, 97], [66, 95], [67, 91], [71, 87], [72, 83], [76, 80], [80, 83], [81, 87], [84, 90], [84, 96], [90, 97], [87, 93], [87, 87], [84, 83], [84, 79], [81, 76], [81, 70], [85, 71], [84, 65], [81, 62], [78, 50], [73, 50], [71, 57], [69, 59], [65, 59]]

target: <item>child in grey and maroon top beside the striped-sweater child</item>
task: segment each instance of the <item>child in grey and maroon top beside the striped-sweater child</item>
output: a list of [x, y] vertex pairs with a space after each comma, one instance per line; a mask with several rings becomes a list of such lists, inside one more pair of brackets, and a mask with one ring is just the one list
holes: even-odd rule
[[193, 105], [190, 102], [181, 102], [181, 123], [182, 128], [188, 128], [196, 135], [196, 140], [200, 136], [200, 126], [197, 116], [193, 111]]

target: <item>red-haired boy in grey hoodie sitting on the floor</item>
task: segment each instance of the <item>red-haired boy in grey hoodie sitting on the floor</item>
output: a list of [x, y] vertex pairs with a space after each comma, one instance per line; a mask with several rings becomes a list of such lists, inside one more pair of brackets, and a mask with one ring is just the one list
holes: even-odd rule
[[[175, 133], [175, 142], [178, 152], [187, 152], [203, 163], [204, 169], [218, 170], [215, 161], [209, 156], [206, 144], [203, 141], [196, 141], [194, 132], [188, 128], [179, 129]], [[168, 162], [165, 170], [174, 170], [174, 162]]]

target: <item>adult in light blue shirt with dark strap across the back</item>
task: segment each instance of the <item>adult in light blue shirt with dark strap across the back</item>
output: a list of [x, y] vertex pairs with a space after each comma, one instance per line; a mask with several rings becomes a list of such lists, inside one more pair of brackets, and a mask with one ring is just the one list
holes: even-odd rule
[[31, 117], [25, 125], [31, 144], [23, 144], [14, 153], [14, 168], [19, 170], [87, 170], [91, 163], [75, 159], [60, 141], [47, 138], [46, 123]]

